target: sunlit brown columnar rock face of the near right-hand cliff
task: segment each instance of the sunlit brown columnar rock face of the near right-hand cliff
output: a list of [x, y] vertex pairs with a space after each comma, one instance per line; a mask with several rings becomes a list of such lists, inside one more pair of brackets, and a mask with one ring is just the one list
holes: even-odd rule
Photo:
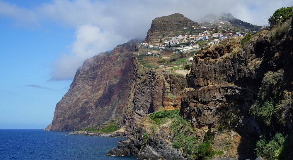
[[[260, 59], [255, 60], [254, 52], [243, 51], [236, 38], [197, 52], [187, 75], [190, 88], [182, 93], [183, 117], [199, 128], [214, 127], [222, 118], [219, 108], [236, 100], [243, 116], [247, 116], [248, 104], [258, 95], [254, 92], [259, 87], [257, 74], [262, 74], [258, 64]], [[257, 132], [258, 126], [250, 123]]]

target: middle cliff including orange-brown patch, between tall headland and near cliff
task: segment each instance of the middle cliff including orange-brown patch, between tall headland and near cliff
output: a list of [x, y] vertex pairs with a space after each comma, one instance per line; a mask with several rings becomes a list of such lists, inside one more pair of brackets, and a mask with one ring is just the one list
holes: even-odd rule
[[[166, 74], [165, 72], [157, 69], [149, 69], [143, 67], [138, 63], [136, 58], [132, 59], [132, 82], [130, 86], [130, 94], [127, 98], [127, 103], [124, 107], [122, 118], [119, 120], [119, 126], [126, 126], [125, 134], [130, 135], [132, 133], [132, 126], [138, 122], [143, 116], [149, 113], [158, 111], [160, 107], [165, 109], [170, 108], [169, 103], [172, 107], [180, 108], [180, 97], [177, 99], [166, 100], [168, 98], [166, 92], [173, 85], [174, 88], [178, 86], [178, 89], [174, 91], [176, 97], [180, 95], [180, 84], [185, 86], [186, 79], [184, 76], [173, 76], [172, 74]], [[167, 82], [167, 77], [174, 77], [175, 81], [181, 83]], [[175, 78], [176, 77], [176, 78]], [[170, 80], [169, 80], [170, 81]], [[171, 87], [172, 88], [172, 87]], [[183, 88], [181, 88], [182, 92]]]

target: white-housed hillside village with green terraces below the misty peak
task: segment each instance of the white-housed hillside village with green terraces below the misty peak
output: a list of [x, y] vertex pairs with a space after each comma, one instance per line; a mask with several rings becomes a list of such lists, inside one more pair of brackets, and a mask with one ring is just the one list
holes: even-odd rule
[[[240, 29], [230, 29], [229, 25], [223, 27], [224, 23], [229, 24], [229, 22], [219, 20], [217, 27], [202, 25], [183, 27], [181, 29], [185, 32], [184, 35], [173, 35], [163, 37], [163, 39], [155, 39], [150, 43], [136, 44], [137, 49], [133, 55], [144, 67], [165, 68], [173, 72], [185, 70], [180, 73], [186, 74], [192, 63], [192, 57], [198, 50], [217, 45], [224, 39], [246, 35], [246, 32], [240, 32]], [[248, 31], [248, 29], [243, 30]], [[156, 58], [147, 58], [149, 56]]]

